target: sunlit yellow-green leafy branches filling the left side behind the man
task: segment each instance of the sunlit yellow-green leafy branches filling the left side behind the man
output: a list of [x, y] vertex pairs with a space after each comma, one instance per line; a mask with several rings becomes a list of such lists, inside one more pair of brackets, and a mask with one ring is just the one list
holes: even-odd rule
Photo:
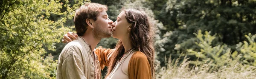
[[[55, 78], [57, 62], [46, 50], [55, 51], [66, 31], [64, 23], [84, 3], [74, 0], [4, 0], [0, 8], [0, 78]], [[67, 8], [67, 11], [61, 11]], [[61, 16], [50, 20], [52, 16]], [[45, 57], [46, 56], [46, 57]]]

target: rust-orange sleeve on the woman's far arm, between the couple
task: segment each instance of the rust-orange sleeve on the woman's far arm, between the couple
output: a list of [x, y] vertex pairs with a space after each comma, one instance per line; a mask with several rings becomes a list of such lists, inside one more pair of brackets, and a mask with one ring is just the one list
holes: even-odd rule
[[95, 54], [99, 58], [99, 63], [100, 63], [100, 68], [103, 69], [105, 66], [108, 66], [109, 62], [111, 61], [111, 55], [115, 49], [110, 49], [110, 48], [102, 48], [99, 46], [95, 50]]

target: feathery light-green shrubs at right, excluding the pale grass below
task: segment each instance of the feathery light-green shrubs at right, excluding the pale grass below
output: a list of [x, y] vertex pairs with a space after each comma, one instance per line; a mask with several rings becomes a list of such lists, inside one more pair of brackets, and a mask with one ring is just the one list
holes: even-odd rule
[[198, 58], [197, 61], [190, 62], [192, 65], [202, 65], [205, 62], [212, 62], [212, 64], [210, 64], [212, 68], [209, 71], [218, 70], [220, 67], [230, 65], [230, 62], [233, 61], [243, 65], [255, 66], [256, 42], [254, 42], [254, 39], [256, 35], [245, 35], [250, 45], [246, 41], [244, 41], [244, 44], [240, 42], [236, 46], [238, 51], [234, 52], [232, 52], [231, 48], [228, 48], [227, 45], [211, 45], [217, 34], [211, 36], [209, 32], [206, 31], [205, 34], [202, 34], [201, 30], [199, 30], [195, 35], [199, 40], [199, 42], [195, 42], [195, 44], [200, 47], [200, 51], [187, 49], [190, 55], [195, 55]]

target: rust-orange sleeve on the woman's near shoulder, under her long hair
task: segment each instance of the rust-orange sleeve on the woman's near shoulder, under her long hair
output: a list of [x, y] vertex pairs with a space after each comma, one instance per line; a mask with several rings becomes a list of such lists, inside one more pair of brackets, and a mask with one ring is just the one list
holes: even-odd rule
[[128, 64], [129, 79], [152, 79], [147, 57], [142, 52], [135, 53]]

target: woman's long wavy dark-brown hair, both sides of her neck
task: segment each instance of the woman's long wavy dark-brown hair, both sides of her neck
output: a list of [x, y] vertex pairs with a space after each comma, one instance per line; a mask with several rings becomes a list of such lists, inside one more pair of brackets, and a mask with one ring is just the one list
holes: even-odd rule
[[[130, 40], [131, 45], [136, 50], [143, 52], [148, 59], [149, 65], [151, 67], [151, 76], [154, 78], [154, 32], [151, 23], [149, 23], [149, 18], [144, 11], [139, 11], [137, 9], [123, 8], [122, 11], [125, 12], [125, 18], [128, 23], [131, 23], [131, 34]], [[116, 62], [122, 57], [125, 49], [122, 42], [116, 44], [116, 51], [112, 55], [113, 61], [110, 62], [108, 66], [108, 74], [113, 70]]]

